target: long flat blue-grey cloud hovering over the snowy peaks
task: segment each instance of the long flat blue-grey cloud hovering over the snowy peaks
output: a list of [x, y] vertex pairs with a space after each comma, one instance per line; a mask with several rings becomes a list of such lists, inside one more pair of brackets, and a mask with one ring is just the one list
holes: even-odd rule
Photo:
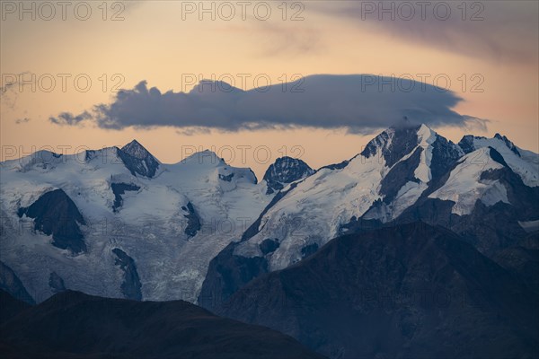
[[225, 131], [282, 127], [344, 127], [368, 133], [404, 116], [430, 126], [468, 126], [484, 121], [453, 109], [454, 92], [413, 80], [370, 74], [307, 76], [293, 83], [243, 91], [222, 82], [203, 81], [190, 92], [160, 92], [138, 83], [118, 92], [110, 104], [74, 116], [50, 118], [60, 125], [83, 120], [98, 127], [215, 128]]

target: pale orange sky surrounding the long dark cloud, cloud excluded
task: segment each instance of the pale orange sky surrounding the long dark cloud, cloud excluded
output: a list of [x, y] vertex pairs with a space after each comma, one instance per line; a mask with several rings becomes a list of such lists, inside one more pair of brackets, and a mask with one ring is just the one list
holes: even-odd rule
[[[447, 21], [414, 18], [402, 24], [391, 19], [362, 20], [360, 14], [345, 18], [338, 10], [349, 2], [335, 1], [298, 2], [301, 5], [295, 7], [288, 3], [286, 21], [282, 19], [282, 7], [278, 7], [282, 6], [280, 1], [266, 3], [272, 11], [266, 21], [257, 18], [261, 13], [250, 10], [243, 20], [238, 6], [234, 6], [236, 16], [230, 21], [220, 18], [218, 12], [215, 20], [210, 18], [211, 13], [204, 13], [200, 21], [198, 11], [185, 13], [187, 3], [179, 1], [108, 2], [105, 21], [98, 7], [102, 2], [87, 3], [91, 4], [92, 15], [86, 21], [78, 20], [70, 8], [66, 21], [61, 19], [59, 8], [50, 21], [42, 20], [40, 17], [49, 16], [48, 9], [36, 8], [34, 21], [31, 13], [20, 20], [20, 9], [13, 11], [4, 3], [0, 31], [2, 86], [10, 74], [25, 72], [41, 76], [41, 83], [37, 83], [35, 92], [25, 85], [2, 93], [2, 160], [13, 148], [15, 155], [22, 155], [32, 146], [101, 148], [137, 138], [162, 162], [178, 162], [193, 148], [212, 146], [230, 159], [232, 148], [231, 164], [250, 166], [261, 177], [269, 162], [283, 154], [301, 155], [318, 168], [348, 159], [372, 137], [347, 135], [345, 129], [213, 130], [187, 135], [186, 128], [105, 130], [91, 123], [68, 127], [49, 122], [50, 116], [62, 111], [80, 113], [109, 102], [116, 83], [130, 89], [146, 80], [148, 86], [162, 92], [180, 92], [190, 90], [189, 83], [182, 83], [182, 78], [190, 74], [206, 78], [214, 74], [224, 81], [232, 76], [237, 87], [241, 87], [239, 74], [267, 74], [273, 83], [278, 83], [283, 74], [286, 78], [293, 74], [446, 74], [451, 90], [464, 99], [455, 110], [490, 122], [486, 132], [460, 127], [437, 128], [438, 132], [454, 141], [470, 132], [481, 136], [500, 132], [518, 146], [539, 152], [536, 2], [496, 2], [496, 6], [483, 2], [481, 22], [462, 23], [462, 14], [455, 13], [454, 8], [453, 17]], [[19, 2], [13, 4], [18, 6]], [[190, 4], [197, 6], [199, 2]], [[209, 7], [212, 2], [205, 4]], [[257, 3], [251, 4], [254, 7]], [[512, 10], [504, 10], [504, 5]], [[321, 10], [324, 6], [332, 6], [331, 11]], [[300, 10], [304, 20], [290, 21]], [[116, 12], [124, 20], [111, 21]], [[418, 33], [404, 33], [399, 26], [416, 26], [413, 31]], [[460, 27], [464, 32], [458, 31]], [[50, 76], [44, 74], [56, 79], [56, 87], [50, 92], [46, 92]], [[70, 75], [65, 92], [58, 74]], [[75, 88], [77, 74], [92, 80], [88, 92]], [[114, 74], [119, 76], [113, 79]], [[464, 88], [463, 74], [467, 79]], [[473, 74], [480, 74], [484, 80], [479, 86], [482, 92], [472, 92], [476, 83]], [[244, 87], [247, 90], [255, 84], [247, 81]], [[268, 149], [270, 159], [261, 158]]]

